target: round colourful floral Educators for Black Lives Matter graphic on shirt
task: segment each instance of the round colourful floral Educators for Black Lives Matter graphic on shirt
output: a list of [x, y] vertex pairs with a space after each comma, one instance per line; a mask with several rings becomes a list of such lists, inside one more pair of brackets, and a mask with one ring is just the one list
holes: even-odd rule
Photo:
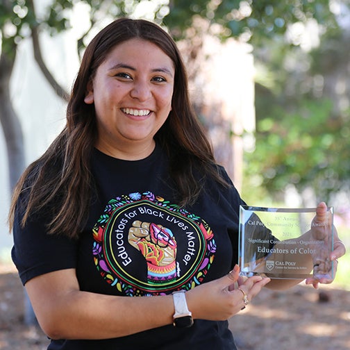
[[94, 264], [111, 288], [128, 296], [194, 288], [216, 251], [203, 219], [151, 192], [111, 199], [93, 235]]

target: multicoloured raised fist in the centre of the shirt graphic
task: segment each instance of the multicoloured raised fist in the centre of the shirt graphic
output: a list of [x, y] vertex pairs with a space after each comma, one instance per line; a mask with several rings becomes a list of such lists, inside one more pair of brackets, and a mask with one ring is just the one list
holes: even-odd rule
[[136, 220], [128, 231], [128, 242], [147, 261], [149, 283], [176, 278], [176, 240], [169, 228]]

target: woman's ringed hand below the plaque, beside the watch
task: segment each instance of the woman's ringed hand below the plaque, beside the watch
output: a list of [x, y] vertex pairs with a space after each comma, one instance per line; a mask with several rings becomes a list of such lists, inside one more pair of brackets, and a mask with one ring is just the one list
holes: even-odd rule
[[[203, 283], [186, 292], [188, 309], [194, 319], [224, 321], [240, 312], [244, 306], [244, 294], [251, 301], [270, 281], [270, 278], [252, 276], [245, 280], [239, 277], [240, 267], [215, 281]], [[239, 289], [235, 288], [239, 285]]]

